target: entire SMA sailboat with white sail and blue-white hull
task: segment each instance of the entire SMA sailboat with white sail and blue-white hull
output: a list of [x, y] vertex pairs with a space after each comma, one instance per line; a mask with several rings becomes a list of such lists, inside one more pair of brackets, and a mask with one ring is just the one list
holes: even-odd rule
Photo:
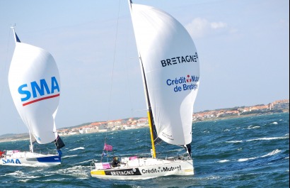
[[[4, 150], [0, 165], [52, 166], [61, 164], [64, 142], [54, 117], [60, 95], [59, 70], [52, 55], [42, 48], [21, 43], [13, 29], [16, 48], [8, 74], [14, 104], [30, 133], [30, 150]], [[55, 143], [57, 150], [35, 153], [33, 142]]]

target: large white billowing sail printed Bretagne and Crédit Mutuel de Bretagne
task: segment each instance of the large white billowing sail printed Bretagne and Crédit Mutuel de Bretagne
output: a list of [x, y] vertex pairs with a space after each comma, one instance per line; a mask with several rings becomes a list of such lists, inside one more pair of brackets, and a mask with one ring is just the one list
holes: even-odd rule
[[192, 142], [192, 113], [199, 59], [186, 29], [168, 13], [131, 4], [132, 23], [158, 137], [173, 145]]

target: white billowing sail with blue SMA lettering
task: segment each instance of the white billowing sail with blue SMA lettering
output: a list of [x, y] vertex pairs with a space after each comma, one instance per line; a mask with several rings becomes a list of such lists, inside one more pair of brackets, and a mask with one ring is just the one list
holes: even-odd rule
[[18, 36], [8, 73], [14, 104], [37, 143], [57, 138], [54, 117], [60, 95], [59, 70], [52, 55], [42, 48], [21, 43]]

